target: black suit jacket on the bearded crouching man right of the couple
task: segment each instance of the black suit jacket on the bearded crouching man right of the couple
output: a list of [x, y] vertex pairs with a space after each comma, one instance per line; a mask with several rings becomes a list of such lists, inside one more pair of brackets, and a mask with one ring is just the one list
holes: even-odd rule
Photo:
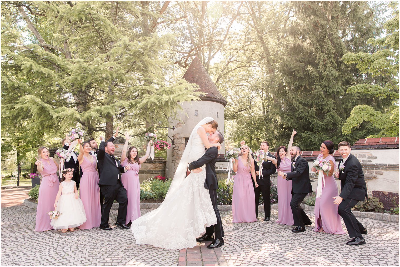
[[292, 194], [312, 192], [308, 162], [300, 156], [292, 164], [292, 172], [286, 173], [286, 180], [292, 180]]

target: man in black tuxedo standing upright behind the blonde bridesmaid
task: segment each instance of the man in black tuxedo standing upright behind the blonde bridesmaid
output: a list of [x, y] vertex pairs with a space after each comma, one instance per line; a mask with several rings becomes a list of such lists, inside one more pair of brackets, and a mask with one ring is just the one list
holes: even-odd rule
[[[240, 145], [245, 145], [244, 141], [240, 142]], [[260, 150], [263, 150], [267, 157], [274, 157], [268, 149], [270, 148], [270, 144], [267, 141], [262, 141], [260, 144]], [[254, 180], [251, 179], [254, 188], [254, 198], [256, 200], [256, 217], [258, 217], [258, 205], [260, 204], [260, 195], [262, 195], [262, 199], [264, 199], [264, 221], [269, 221], [271, 217], [271, 179], [270, 175], [276, 172], [275, 164], [271, 162], [271, 160], [267, 159], [262, 161], [262, 176], [258, 177], [260, 173], [260, 167], [257, 164], [257, 161], [254, 160], [254, 170], [256, 171], [256, 179], [258, 183], [258, 187], [254, 184]]]

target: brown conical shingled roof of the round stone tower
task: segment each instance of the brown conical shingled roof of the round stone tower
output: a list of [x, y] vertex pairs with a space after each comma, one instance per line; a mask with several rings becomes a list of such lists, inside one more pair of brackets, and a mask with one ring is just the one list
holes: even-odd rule
[[206, 69], [197, 56], [194, 58], [182, 78], [190, 83], [200, 86], [200, 90], [198, 91], [206, 94], [205, 96], [200, 96], [201, 100], [218, 102], [224, 106], [228, 104], [224, 96], [222, 96], [220, 91], [218, 91], [214, 82], [211, 80], [210, 75], [208, 75]]

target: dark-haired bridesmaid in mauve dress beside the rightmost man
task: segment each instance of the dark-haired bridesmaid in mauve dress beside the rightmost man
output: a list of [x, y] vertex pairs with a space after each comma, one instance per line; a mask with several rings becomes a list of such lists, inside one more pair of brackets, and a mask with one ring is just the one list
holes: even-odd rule
[[[338, 214], [338, 205], [333, 203], [333, 197], [338, 195], [338, 185], [333, 177], [333, 172], [336, 167], [335, 159], [331, 155], [334, 153], [333, 142], [330, 140], [322, 142], [320, 151], [321, 154], [318, 155], [318, 159], [324, 158], [329, 160], [331, 169], [328, 175], [324, 173], [325, 184], [322, 183], [321, 197], [316, 197], [315, 199], [314, 231], [342, 235], [345, 232], [343, 231], [340, 215]], [[312, 167], [311, 171], [316, 172], [316, 169]]]

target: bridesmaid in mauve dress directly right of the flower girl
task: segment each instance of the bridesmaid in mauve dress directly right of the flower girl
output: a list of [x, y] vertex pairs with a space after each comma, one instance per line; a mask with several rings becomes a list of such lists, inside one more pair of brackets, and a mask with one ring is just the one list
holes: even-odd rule
[[83, 171], [80, 178], [79, 197], [82, 200], [83, 207], [86, 214], [86, 222], [79, 226], [79, 229], [92, 229], [93, 227], [100, 226], [101, 208], [100, 208], [100, 187], [99, 187], [99, 173], [97, 171], [96, 156], [92, 155], [90, 151], [89, 142], [78, 140], [79, 165]]

